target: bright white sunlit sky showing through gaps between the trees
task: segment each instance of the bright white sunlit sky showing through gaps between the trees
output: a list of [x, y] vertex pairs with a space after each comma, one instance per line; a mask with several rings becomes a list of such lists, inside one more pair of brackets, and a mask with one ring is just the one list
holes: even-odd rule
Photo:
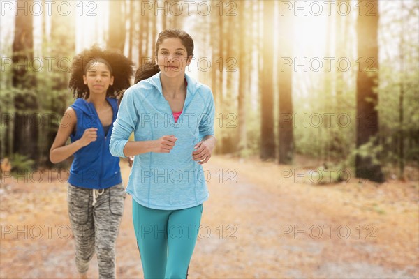
[[[19, 3], [22, 7], [24, 6], [25, 1]], [[80, 52], [80, 50], [90, 47], [94, 43], [97, 43], [101, 47], [106, 46], [106, 41], [108, 40], [108, 22], [109, 22], [109, 1], [64, 1], [66, 3], [71, 3], [71, 13], [68, 15], [64, 15], [68, 6], [61, 6], [61, 14], [62, 16], [66, 17], [75, 17], [75, 53]], [[142, 1], [147, 3], [152, 3], [152, 1]], [[141, 3], [142, 3], [141, 2]], [[159, 1], [163, 2], [163, 1]], [[197, 13], [197, 7], [199, 3], [202, 1], [195, 1], [193, 5], [190, 6], [191, 15], [189, 14], [189, 10], [184, 10], [183, 13], [186, 14], [184, 17], [184, 24], [183, 29], [186, 30], [188, 33], [195, 40], [196, 50], [195, 50], [195, 57], [196, 60], [209, 56], [210, 50], [208, 45], [205, 45], [201, 40], [203, 38], [203, 34], [209, 32], [208, 27], [211, 24], [202, 25], [203, 18], [202, 14]], [[316, 85], [316, 83], [321, 82], [320, 77], [324, 70], [328, 70], [329, 64], [332, 66], [331, 71], [333, 72], [336, 68], [336, 63], [339, 57], [336, 56], [336, 45], [335, 45], [335, 33], [336, 33], [336, 12], [341, 15], [342, 19], [345, 21], [346, 30], [348, 32], [346, 34], [346, 38], [349, 40], [347, 43], [348, 49], [346, 50], [346, 56], [348, 59], [355, 59], [356, 56], [356, 33], [355, 33], [355, 24], [356, 24], [356, 17], [358, 15], [358, 11], [356, 10], [357, 2], [356, 1], [348, 1], [351, 6], [347, 5], [340, 5], [338, 6], [335, 1], [331, 1], [328, 4], [323, 3], [323, 1], [284, 1], [286, 4], [284, 5], [291, 5], [293, 7], [292, 10], [294, 14], [293, 17], [293, 54], [292, 54], [292, 67], [294, 70], [295, 75], [293, 75], [293, 83], [295, 85], [295, 90], [293, 94], [297, 94], [297, 96], [304, 97], [309, 94], [309, 89], [321, 85]], [[41, 22], [43, 19], [46, 19], [46, 29], [50, 29], [50, 22], [51, 17], [48, 13], [50, 13], [45, 3], [42, 1], [34, 1], [35, 4], [32, 6], [27, 6], [26, 10], [32, 12], [34, 15], [34, 56], [35, 57], [42, 57], [42, 26]], [[127, 2], [128, 3], [128, 2]], [[277, 1], [277, 7], [282, 4]], [[387, 27], [383, 27], [383, 24], [391, 22], [397, 17], [398, 12], [400, 10], [400, 5], [398, 4], [399, 1], [379, 1], [379, 11], [380, 11], [380, 33], [379, 33], [379, 40], [380, 42], [385, 43], [385, 45], [381, 45], [380, 47], [380, 57], [379, 59], [383, 59], [388, 56], [397, 55], [397, 38], [392, 39], [392, 34], [395, 32], [399, 32], [400, 30], [392, 31]], [[406, 6], [411, 5], [413, 1], [404, 1]], [[29, 4], [27, 4], [29, 5]], [[163, 4], [159, 4], [163, 6]], [[144, 8], [145, 6], [143, 6]], [[186, 6], [184, 6], [186, 7]], [[128, 8], [128, 5], [126, 5]], [[275, 11], [275, 19], [278, 19], [279, 13], [286, 13], [287, 9], [290, 6], [281, 6], [277, 8]], [[42, 9], [42, 10], [41, 10]], [[58, 4], [52, 4], [50, 9], [54, 11], [54, 9], [58, 10]], [[351, 13], [348, 13], [348, 9], [351, 10]], [[14, 21], [15, 21], [15, 13], [16, 13], [16, 4], [15, 1], [1, 1], [1, 56], [2, 57], [9, 57], [11, 55], [11, 45], [13, 42], [14, 36]], [[146, 12], [145, 10], [142, 10]], [[170, 10], [169, 10], [170, 12]], [[164, 13], [164, 10], [158, 9], [156, 7], [149, 8], [147, 13], [154, 13], [157, 15], [159, 19]], [[256, 12], [255, 12], [256, 13]], [[333, 15], [335, 13], [335, 15]], [[140, 13], [138, 15], [134, 15], [135, 17], [142, 16]], [[240, 16], [240, 15], [237, 15]], [[263, 17], [263, 15], [261, 15]], [[201, 17], [201, 18], [199, 18]], [[330, 20], [332, 17], [332, 20]], [[224, 17], [226, 18], [226, 17]], [[223, 19], [224, 19], [223, 18]], [[65, 20], [63, 21], [65, 22]], [[332, 24], [330, 24], [332, 23]], [[127, 16], [127, 23], [126, 23], [126, 31], [128, 33], [128, 16]], [[279, 24], [276, 20], [272, 22], [274, 24], [274, 30], [277, 32], [281, 31]], [[409, 23], [408, 23], [409, 24]], [[170, 28], [170, 26], [168, 26]], [[245, 28], [254, 29], [255, 24], [253, 22], [249, 22], [248, 26]], [[157, 20], [157, 33], [161, 31], [161, 21]], [[232, 30], [231, 32], [234, 32]], [[330, 33], [330, 44], [326, 45], [328, 42], [328, 33]], [[416, 33], [416, 38], [418, 34]], [[274, 43], [276, 47], [278, 47], [278, 33], [274, 33], [273, 37]], [[126, 36], [126, 41], [128, 42], [128, 34]], [[351, 43], [352, 42], [352, 43]], [[256, 40], [253, 42], [247, 42], [250, 44], [258, 43]], [[263, 50], [261, 50], [263, 52]], [[328, 53], [326, 53], [328, 52]], [[125, 54], [128, 53], [128, 43], [125, 44]], [[133, 54], [133, 61], [134, 63], [138, 63], [138, 56], [137, 52]], [[259, 53], [253, 53], [253, 56], [260, 56]], [[325, 57], [335, 57], [335, 60], [328, 60]], [[71, 57], [70, 57], [71, 59]], [[273, 57], [274, 61], [281, 62], [278, 57]], [[307, 59], [304, 62], [304, 59]], [[289, 61], [283, 61], [288, 63]], [[216, 64], [215, 61], [212, 61], [213, 65]], [[339, 65], [341, 68], [345, 67], [346, 60], [341, 61]], [[304, 65], [308, 65], [309, 69], [304, 68]], [[284, 65], [280, 65], [277, 63], [274, 66], [274, 72], [281, 70], [281, 67]], [[352, 65], [353, 66], [353, 65]], [[254, 67], [255, 70], [257, 67]], [[351, 67], [351, 70], [355, 67]], [[197, 63], [192, 63], [190, 74], [197, 77], [198, 76], [198, 66]], [[321, 69], [321, 70], [317, 70]]]

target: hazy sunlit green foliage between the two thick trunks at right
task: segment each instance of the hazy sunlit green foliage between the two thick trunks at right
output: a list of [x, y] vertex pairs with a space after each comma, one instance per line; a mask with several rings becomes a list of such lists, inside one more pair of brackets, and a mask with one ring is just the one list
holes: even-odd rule
[[307, 105], [294, 104], [295, 147], [302, 155], [342, 163], [355, 148], [355, 90], [337, 81], [339, 93], [332, 93], [333, 77], [324, 75], [325, 85], [304, 98]]

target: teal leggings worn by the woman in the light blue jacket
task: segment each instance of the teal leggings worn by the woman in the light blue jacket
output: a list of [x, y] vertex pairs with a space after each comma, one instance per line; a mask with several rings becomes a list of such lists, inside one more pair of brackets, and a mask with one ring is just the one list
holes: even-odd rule
[[186, 278], [203, 205], [149, 209], [133, 200], [133, 223], [145, 279]]

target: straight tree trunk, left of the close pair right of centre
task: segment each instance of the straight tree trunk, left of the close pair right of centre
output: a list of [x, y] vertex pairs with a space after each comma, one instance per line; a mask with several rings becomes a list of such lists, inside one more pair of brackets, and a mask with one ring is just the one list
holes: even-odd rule
[[274, 86], [273, 86], [273, 68], [274, 61], [274, 1], [263, 2], [263, 70], [260, 82], [262, 82], [261, 102], [261, 142], [260, 142], [260, 158], [268, 160], [275, 158], [275, 142], [274, 142]]

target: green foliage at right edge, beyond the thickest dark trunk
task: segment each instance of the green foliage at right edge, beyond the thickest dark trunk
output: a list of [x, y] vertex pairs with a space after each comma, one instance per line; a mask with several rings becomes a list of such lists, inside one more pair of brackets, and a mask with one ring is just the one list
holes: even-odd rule
[[[406, 60], [408, 58], [409, 55]], [[413, 58], [413, 61], [418, 63], [418, 58]], [[394, 61], [385, 61], [381, 66], [377, 109], [383, 147], [381, 163], [395, 166], [401, 160], [406, 163], [419, 162], [419, 69], [416, 66], [402, 72], [395, 70], [392, 63]]]

